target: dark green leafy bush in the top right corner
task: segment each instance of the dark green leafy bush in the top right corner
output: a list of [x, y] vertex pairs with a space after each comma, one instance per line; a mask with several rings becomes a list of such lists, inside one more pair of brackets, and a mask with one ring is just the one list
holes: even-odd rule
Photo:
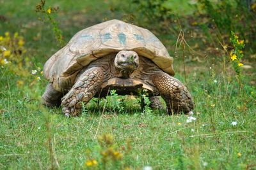
[[[231, 36], [230, 32], [236, 30], [241, 38], [246, 42], [246, 46], [255, 52], [254, 41], [256, 35], [255, 29], [255, 11], [250, 10], [248, 1], [198, 1], [200, 6], [199, 11], [204, 11], [214, 25], [208, 23], [209, 27], [216, 27], [219, 32], [219, 37], [227, 41]], [[253, 9], [253, 4], [252, 4]], [[248, 24], [250, 23], [250, 24]]]

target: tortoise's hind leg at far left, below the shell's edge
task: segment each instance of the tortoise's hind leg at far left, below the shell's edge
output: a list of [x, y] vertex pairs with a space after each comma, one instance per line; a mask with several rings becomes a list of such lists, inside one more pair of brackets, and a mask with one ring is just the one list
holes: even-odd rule
[[62, 96], [63, 96], [63, 93], [54, 90], [52, 87], [52, 83], [49, 83], [42, 96], [42, 104], [48, 107], [54, 107], [54, 106], [58, 107], [61, 104]]

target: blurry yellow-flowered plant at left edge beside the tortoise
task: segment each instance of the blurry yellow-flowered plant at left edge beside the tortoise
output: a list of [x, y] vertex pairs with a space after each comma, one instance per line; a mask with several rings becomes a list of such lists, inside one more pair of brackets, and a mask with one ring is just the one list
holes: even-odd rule
[[30, 82], [30, 85], [34, 85], [37, 81], [41, 80], [43, 74], [41, 68], [36, 67], [32, 62], [24, 45], [24, 37], [20, 36], [18, 32], [14, 34], [5, 32], [3, 36], [0, 35], [0, 66], [1, 71], [3, 71], [2, 76], [5, 76], [7, 73], [19, 76], [19, 80], [16, 81], [17, 87], [22, 87], [25, 81]]

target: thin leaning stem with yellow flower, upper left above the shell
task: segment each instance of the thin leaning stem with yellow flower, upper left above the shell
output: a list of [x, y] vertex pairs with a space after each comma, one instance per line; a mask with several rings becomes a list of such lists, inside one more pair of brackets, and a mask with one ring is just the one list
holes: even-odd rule
[[52, 15], [53, 13], [58, 13], [59, 8], [52, 8], [51, 6], [49, 6], [49, 8], [45, 8], [45, 1], [46, 0], [40, 0], [40, 3], [36, 5], [36, 13], [41, 13], [43, 15], [42, 17], [39, 17], [38, 20], [49, 22], [51, 24], [55, 39], [58, 45], [62, 47], [65, 43], [63, 41], [62, 31], [54, 15]]

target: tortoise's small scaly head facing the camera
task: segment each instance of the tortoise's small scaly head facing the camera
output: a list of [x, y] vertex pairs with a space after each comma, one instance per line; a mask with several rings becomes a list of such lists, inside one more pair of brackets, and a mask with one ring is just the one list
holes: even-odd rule
[[116, 54], [114, 65], [120, 71], [120, 77], [129, 78], [129, 75], [139, 66], [138, 53], [120, 51]]

